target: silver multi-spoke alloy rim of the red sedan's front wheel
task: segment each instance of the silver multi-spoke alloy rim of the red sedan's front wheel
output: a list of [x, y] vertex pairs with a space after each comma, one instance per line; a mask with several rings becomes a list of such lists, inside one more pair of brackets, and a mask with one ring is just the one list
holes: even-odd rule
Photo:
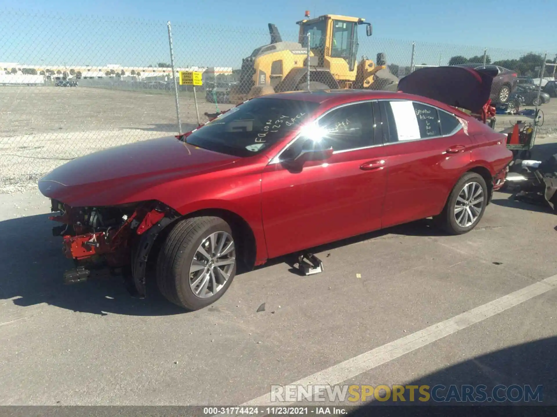
[[206, 237], [193, 255], [189, 266], [189, 287], [199, 298], [208, 298], [222, 290], [234, 264], [236, 249], [227, 232], [214, 232]]

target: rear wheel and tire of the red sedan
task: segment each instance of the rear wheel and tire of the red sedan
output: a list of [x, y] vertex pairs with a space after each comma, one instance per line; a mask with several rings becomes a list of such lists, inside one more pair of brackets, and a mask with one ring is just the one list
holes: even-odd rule
[[467, 172], [453, 187], [443, 211], [434, 217], [434, 221], [448, 234], [462, 235], [480, 222], [487, 200], [488, 190], [483, 177], [476, 172]]

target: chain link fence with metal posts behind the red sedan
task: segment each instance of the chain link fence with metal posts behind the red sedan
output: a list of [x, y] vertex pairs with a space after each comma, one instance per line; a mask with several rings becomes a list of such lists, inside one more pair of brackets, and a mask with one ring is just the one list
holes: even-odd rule
[[[335, 23], [329, 38], [321, 22], [279, 31], [13, 10], [0, 21], [17, 28], [0, 34], [0, 192], [35, 187], [87, 153], [189, 131], [253, 95], [388, 90], [427, 66], [477, 63], [530, 78], [551, 96], [538, 140], [557, 136], [557, 56], [546, 51], [382, 39], [357, 19]], [[201, 72], [203, 85], [179, 85], [180, 71]]]

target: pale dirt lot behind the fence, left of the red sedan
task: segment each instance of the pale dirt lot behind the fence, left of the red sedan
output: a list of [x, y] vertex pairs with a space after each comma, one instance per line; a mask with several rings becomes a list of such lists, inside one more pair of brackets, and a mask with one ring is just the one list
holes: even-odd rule
[[[199, 114], [216, 111], [200, 92]], [[180, 97], [182, 130], [197, 122]], [[219, 105], [219, 110], [229, 108]], [[101, 88], [0, 87], [0, 192], [35, 187], [63, 162], [124, 143], [177, 133], [174, 96]]]

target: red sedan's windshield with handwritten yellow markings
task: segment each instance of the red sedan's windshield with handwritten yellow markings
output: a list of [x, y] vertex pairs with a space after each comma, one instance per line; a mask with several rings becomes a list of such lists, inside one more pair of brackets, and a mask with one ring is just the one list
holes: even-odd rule
[[186, 142], [228, 155], [256, 155], [300, 127], [317, 107], [315, 102], [254, 98], [194, 131]]

